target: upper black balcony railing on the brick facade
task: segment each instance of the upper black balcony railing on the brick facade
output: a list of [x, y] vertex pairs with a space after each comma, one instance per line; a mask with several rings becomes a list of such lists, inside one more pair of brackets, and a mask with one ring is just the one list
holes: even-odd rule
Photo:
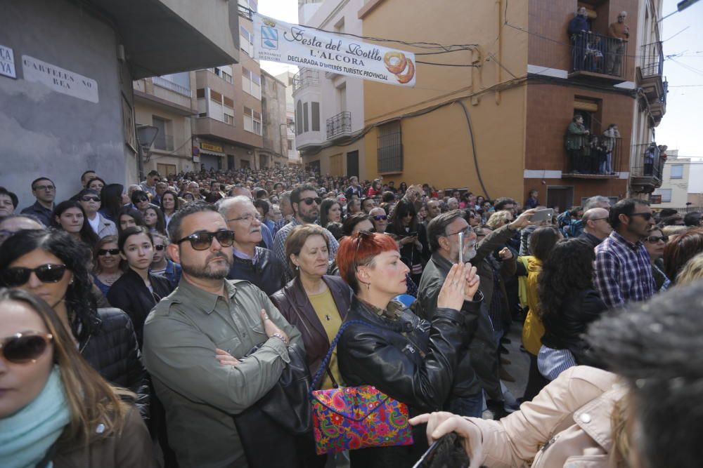
[[572, 72], [621, 78], [627, 65], [627, 42], [595, 32], [572, 36]]

